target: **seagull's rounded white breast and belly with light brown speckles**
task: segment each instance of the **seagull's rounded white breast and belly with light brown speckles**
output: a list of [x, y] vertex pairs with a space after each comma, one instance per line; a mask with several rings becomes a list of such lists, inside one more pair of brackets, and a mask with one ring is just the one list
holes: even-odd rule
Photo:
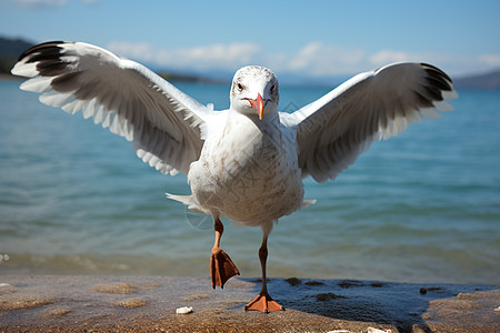
[[303, 184], [292, 132], [278, 119], [254, 123], [236, 112], [219, 125], [189, 171], [197, 204], [247, 225], [298, 210]]

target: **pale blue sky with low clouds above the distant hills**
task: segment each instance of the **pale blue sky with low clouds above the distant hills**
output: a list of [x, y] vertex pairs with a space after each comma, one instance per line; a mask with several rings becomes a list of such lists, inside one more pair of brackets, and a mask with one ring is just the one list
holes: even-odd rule
[[500, 68], [500, 1], [0, 0], [0, 34], [77, 40], [179, 71], [348, 75], [394, 61]]

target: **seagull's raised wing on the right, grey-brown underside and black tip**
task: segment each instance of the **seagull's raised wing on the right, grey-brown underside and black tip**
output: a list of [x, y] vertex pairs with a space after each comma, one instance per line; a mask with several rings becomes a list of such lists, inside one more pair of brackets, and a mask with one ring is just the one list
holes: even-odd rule
[[424, 63], [396, 63], [358, 74], [282, 122], [297, 130], [299, 167], [318, 182], [354, 163], [373, 141], [453, 108], [451, 79]]

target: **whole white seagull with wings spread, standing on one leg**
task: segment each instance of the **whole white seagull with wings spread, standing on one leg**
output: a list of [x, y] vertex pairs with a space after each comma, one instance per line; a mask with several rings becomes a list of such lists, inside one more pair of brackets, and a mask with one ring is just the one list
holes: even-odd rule
[[12, 69], [29, 78], [26, 91], [132, 142], [137, 155], [163, 174], [187, 175], [191, 195], [167, 194], [211, 215], [212, 287], [239, 270], [221, 250], [221, 218], [260, 226], [262, 289], [246, 310], [284, 310], [268, 293], [268, 236], [278, 219], [312, 204], [302, 180], [334, 180], [372, 142], [453, 108], [451, 79], [426, 63], [392, 63], [360, 73], [317, 101], [279, 112], [279, 84], [263, 67], [238, 70], [229, 110], [214, 111], [146, 67], [83, 42], [46, 42], [19, 57]]

